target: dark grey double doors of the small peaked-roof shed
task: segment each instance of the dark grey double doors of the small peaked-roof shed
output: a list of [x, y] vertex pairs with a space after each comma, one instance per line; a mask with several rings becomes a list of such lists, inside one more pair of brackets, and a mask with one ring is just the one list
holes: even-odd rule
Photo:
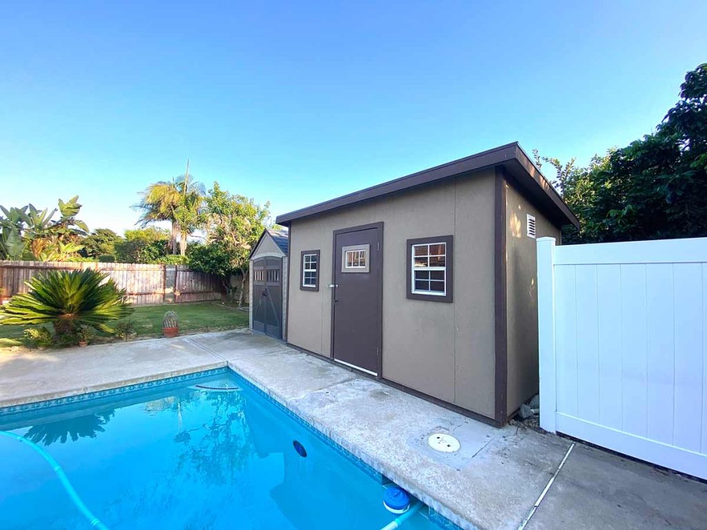
[[253, 329], [282, 338], [282, 259], [253, 261]]

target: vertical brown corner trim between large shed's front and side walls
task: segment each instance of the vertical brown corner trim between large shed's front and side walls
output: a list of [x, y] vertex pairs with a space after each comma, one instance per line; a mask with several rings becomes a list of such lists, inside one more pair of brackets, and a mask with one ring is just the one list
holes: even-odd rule
[[496, 423], [508, 419], [508, 298], [506, 283], [506, 175], [502, 166], [496, 166], [493, 220], [493, 322], [496, 351], [495, 413]]

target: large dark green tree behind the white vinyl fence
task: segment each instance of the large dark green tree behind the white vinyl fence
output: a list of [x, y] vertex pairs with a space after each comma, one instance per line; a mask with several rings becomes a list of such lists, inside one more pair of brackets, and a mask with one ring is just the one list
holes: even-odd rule
[[566, 242], [706, 236], [707, 64], [686, 74], [680, 100], [653, 134], [585, 168], [543, 160], [561, 169], [556, 186], [580, 220]]

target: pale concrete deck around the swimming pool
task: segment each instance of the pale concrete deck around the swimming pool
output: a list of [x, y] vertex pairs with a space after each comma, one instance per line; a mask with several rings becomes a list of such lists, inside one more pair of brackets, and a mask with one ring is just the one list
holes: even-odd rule
[[[247, 330], [0, 353], [0, 407], [229, 366], [465, 529], [518, 529], [570, 440], [496, 429]], [[426, 443], [455, 435], [443, 454]], [[707, 528], [707, 485], [575, 445], [530, 530]]]

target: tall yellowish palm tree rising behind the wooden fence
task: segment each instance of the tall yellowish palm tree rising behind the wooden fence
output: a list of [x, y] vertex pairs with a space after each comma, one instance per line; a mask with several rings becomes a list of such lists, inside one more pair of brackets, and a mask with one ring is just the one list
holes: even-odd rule
[[189, 175], [189, 162], [184, 175], [168, 182], [160, 180], [150, 184], [142, 192], [141, 200], [134, 206], [141, 210], [138, 220], [141, 226], [168, 220], [171, 223], [170, 249], [177, 254], [177, 237], [180, 239], [180, 253], [187, 252], [187, 237], [201, 225], [201, 205], [206, 191], [204, 184]]

